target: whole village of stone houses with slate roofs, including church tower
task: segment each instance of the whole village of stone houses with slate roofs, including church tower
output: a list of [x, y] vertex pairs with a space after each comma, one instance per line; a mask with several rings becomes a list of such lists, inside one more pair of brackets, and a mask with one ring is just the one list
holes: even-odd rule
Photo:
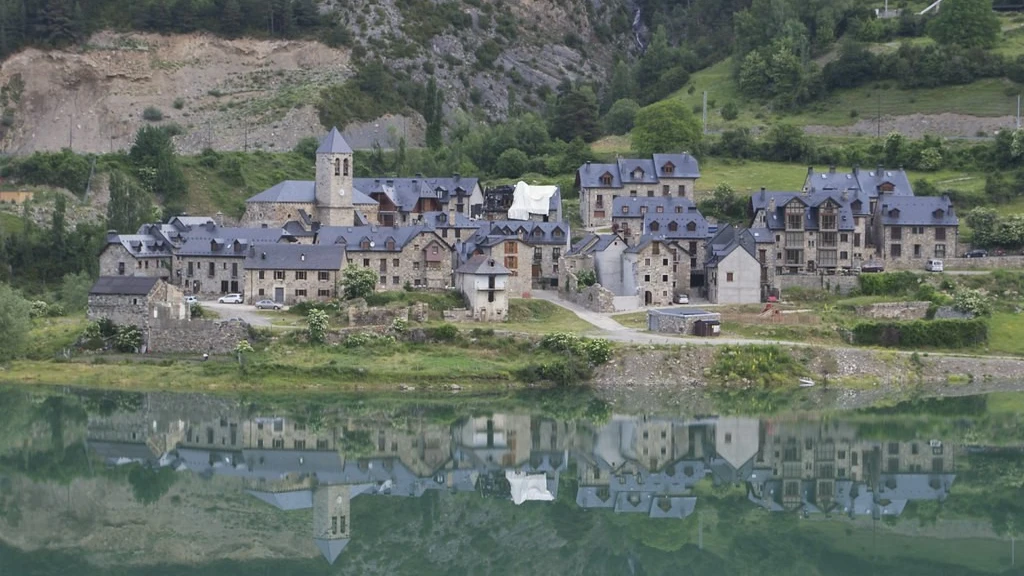
[[337, 129], [315, 156], [315, 180], [249, 198], [237, 224], [181, 215], [134, 234], [111, 231], [90, 318], [169, 325], [186, 320], [185, 294], [328, 300], [346, 266], [373, 270], [380, 291], [458, 290], [463, 318], [475, 321], [505, 320], [509, 299], [534, 290], [604, 313], [691, 299], [757, 303], [791, 286], [840, 282], [869, 262], [924, 270], [958, 254], [950, 200], [914, 196], [902, 169], [883, 166], [808, 168], [800, 191], [753, 193], [750, 224], [737, 228], [697, 209], [700, 172], [689, 154], [588, 162], [575, 176], [580, 231], [564, 218], [557, 187], [355, 177]]

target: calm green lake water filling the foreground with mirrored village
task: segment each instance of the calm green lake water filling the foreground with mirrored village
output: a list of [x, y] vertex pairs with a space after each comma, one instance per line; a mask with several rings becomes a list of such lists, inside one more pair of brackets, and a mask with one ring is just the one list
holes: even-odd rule
[[1016, 395], [453, 398], [0, 388], [0, 574], [1024, 573]]

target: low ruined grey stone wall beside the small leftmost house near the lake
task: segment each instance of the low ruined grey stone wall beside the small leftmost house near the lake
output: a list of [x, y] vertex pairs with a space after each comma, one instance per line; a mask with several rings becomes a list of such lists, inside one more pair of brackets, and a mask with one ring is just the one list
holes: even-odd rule
[[249, 337], [240, 321], [157, 320], [150, 326], [148, 352], [162, 354], [230, 354]]

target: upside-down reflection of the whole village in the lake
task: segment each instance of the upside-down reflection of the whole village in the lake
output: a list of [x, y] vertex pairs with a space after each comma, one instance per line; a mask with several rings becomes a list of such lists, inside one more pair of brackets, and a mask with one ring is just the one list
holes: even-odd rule
[[669, 519], [662, 522], [690, 516], [705, 479], [743, 484], [752, 505], [772, 511], [876, 519], [944, 499], [954, 479], [952, 451], [938, 440], [863, 440], [855, 425], [825, 421], [616, 416], [590, 425], [494, 414], [397, 426], [177, 416], [90, 416], [89, 446], [111, 465], [238, 478], [268, 505], [311, 508], [311, 536], [331, 563], [358, 537], [352, 498], [444, 490], [517, 504], [553, 500], [573, 463], [579, 506]]

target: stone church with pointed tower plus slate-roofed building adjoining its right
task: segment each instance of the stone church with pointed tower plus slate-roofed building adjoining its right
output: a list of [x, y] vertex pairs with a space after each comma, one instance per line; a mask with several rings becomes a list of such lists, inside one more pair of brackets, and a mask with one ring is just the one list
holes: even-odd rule
[[316, 150], [314, 180], [286, 180], [246, 201], [244, 225], [281, 228], [290, 220], [322, 225], [402, 225], [425, 212], [466, 216], [483, 203], [477, 178], [356, 178], [351, 147], [337, 128]]

